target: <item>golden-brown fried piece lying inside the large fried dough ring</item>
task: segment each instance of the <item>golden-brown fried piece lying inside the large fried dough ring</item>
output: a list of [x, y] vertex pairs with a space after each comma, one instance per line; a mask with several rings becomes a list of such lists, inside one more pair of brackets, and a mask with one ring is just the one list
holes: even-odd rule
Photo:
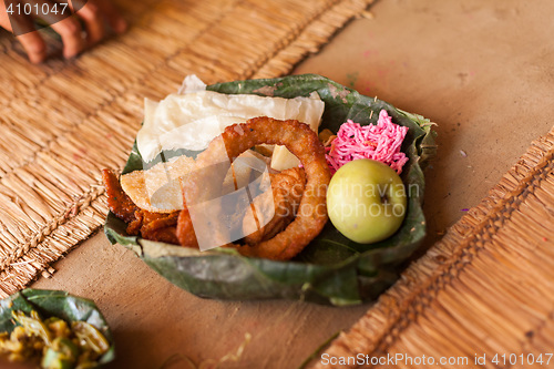
[[[299, 167], [269, 174], [269, 177], [271, 193], [256, 196], [253, 203], [254, 209], [249, 208], [243, 219], [243, 233], [247, 235], [244, 242], [250, 246], [275, 237], [293, 222], [306, 185], [306, 174]], [[269, 209], [271, 206], [274, 209]], [[265, 214], [270, 214], [273, 217], [266, 222], [261, 218]], [[265, 226], [260, 228], [260, 224]], [[250, 233], [253, 228], [257, 230]]]

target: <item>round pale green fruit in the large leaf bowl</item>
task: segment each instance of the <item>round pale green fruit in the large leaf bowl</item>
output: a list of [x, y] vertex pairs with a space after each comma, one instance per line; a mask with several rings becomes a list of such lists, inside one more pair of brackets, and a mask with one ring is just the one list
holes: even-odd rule
[[327, 191], [332, 225], [346, 237], [372, 244], [392, 236], [406, 215], [406, 188], [388, 165], [360, 158], [341, 166]]

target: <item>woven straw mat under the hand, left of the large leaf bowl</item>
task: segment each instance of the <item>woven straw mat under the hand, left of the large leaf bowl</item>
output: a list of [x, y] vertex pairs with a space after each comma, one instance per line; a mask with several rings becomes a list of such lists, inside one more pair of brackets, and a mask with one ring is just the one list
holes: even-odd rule
[[23, 288], [107, 213], [144, 98], [288, 73], [372, 0], [121, 0], [130, 30], [74, 61], [31, 65], [0, 35], [0, 296]]

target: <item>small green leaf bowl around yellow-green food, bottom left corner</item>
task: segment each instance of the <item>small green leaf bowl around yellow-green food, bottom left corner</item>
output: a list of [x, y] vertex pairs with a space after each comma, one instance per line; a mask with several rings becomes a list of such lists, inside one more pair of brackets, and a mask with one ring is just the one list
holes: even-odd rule
[[85, 321], [94, 326], [110, 342], [110, 349], [100, 357], [98, 367], [115, 358], [110, 327], [94, 301], [62, 290], [27, 288], [0, 300], [0, 332], [11, 332], [16, 328], [12, 311], [23, 311], [29, 316], [32, 310], [39, 312], [42, 319], [57, 317], [69, 324]]

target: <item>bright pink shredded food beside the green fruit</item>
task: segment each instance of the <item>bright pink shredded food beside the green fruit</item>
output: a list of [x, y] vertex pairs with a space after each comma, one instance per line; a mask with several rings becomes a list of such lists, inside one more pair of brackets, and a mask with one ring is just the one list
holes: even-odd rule
[[337, 139], [326, 147], [325, 157], [331, 175], [339, 167], [357, 158], [372, 158], [389, 165], [398, 174], [408, 157], [400, 151], [408, 132], [407, 126], [392, 123], [387, 111], [381, 110], [377, 125], [360, 125], [348, 120], [337, 132]]

